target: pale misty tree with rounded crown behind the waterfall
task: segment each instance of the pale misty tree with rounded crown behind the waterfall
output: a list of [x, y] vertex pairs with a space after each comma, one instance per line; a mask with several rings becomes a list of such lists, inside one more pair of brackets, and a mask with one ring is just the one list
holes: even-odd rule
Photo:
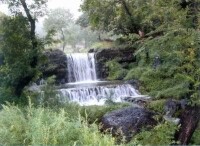
[[63, 51], [66, 46], [66, 36], [65, 32], [67, 32], [68, 27], [73, 23], [73, 15], [69, 12], [69, 10], [57, 8], [51, 10], [48, 17], [44, 21], [44, 29], [46, 32], [50, 30], [55, 30], [57, 35], [60, 37], [63, 43]]

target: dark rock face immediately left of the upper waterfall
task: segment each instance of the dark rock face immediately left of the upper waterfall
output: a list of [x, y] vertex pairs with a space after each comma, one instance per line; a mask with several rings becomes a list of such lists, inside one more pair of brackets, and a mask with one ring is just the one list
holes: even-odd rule
[[61, 50], [48, 50], [44, 53], [46, 61], [41, 65], [40, 71], [43, 78], [56, 76], [56, 83], [63, 84], [67, 81], [67, 56]]

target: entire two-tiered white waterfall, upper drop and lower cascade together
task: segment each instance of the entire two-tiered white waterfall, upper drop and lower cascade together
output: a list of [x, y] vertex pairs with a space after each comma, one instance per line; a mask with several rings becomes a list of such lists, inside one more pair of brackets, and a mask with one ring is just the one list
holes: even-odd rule
[[107, 99], [120, 102], [121, 97], [138, 95], [138, 92], [129, 84], [104, 82], [101, 85], [101, 81], [98, 81], [96, 77], [93, 53], [68, 54], [67, 62], [68, 81], [74, 87], [59, 90], [62, 102], [70, 100], [81, 105], [102, 105]]

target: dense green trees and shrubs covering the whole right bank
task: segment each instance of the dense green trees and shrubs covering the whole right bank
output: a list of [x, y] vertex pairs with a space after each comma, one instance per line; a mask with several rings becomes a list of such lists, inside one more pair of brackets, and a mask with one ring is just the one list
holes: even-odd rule
[[[85, 0], [82, 10], [94, 28], [121, 34], [137, 48], [137, 65], [126, 80], [139, 79], [141, 90], [156, 98], [199, 102], [198, 5], [198, 0]], [[110, 71], [113, 75], [113, 67]]]

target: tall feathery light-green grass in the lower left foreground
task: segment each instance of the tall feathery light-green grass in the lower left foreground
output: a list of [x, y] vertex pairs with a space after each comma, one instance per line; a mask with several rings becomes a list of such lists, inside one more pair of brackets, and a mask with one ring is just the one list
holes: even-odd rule
[[[103, 135], [96, 124], [88, 125], [78, 112], [70, 118], [64, 109], [3, 106], [0, 111], [0, 144], [25, 145], [114, 145], [111, 135]], [[75, 117], [75, 116], [74, 116]]]

